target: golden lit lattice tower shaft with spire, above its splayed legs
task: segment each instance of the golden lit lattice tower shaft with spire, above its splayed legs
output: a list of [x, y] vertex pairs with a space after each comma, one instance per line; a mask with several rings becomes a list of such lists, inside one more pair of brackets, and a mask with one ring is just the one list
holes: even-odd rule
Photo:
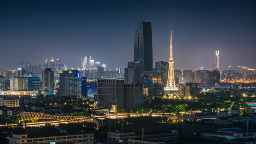
[[167, 79], [167, 88], [174, 88], [175, 81], [174, 81], [174, 73], [173, 73], [173, 64], [174, 60], [172, 58], [172, 31], [171, 31], [171, 40], [170, 40], [170, 58], [168, 60], [169, 63], [169, 71], [168, 71], [168, 79]]

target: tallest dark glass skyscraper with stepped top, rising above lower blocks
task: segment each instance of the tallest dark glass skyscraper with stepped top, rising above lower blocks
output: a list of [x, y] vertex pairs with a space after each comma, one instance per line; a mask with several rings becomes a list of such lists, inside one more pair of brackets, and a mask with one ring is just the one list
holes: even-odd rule
[[152, 31], [151, 22], [139, 22], [139, 29], [134, 33], [134, 67], [152, 71]]

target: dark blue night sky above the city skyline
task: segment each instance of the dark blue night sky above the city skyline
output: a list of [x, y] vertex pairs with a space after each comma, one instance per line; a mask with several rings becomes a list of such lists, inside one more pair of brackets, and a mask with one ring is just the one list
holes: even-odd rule
[[169, 58], [170, 30], [175, 69], [214, 64], [220, 69], [256, 68], [255, 0], [1, 0], [0, 69], [18, 61], [60, 58], [71, 68], [91, 55], [107, 68], [133, 60], [134, 30], [152, 22], [153, 66]]

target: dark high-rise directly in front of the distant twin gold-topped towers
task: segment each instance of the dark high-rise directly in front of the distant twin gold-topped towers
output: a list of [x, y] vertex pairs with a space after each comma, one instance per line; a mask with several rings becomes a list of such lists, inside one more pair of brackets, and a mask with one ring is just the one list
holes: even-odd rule
[[54, 90], [54, 71], [51, 68], [46, 68], [42, 71], [42, 91], [53, 92]]

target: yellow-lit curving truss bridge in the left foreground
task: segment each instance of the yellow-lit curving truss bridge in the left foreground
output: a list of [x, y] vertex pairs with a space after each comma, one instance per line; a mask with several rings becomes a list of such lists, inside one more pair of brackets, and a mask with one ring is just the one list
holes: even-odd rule
[[32, 120], [46, 119], [46, 120], [64, 120], [69, 122], [92, 122], [97, 124], [97, 130], [102, 126], [102, 120], [92, 116], [57, 116], [51, 114], [37, 113], [37, 112], [23, 112], [17, 114], [18, 120]]

